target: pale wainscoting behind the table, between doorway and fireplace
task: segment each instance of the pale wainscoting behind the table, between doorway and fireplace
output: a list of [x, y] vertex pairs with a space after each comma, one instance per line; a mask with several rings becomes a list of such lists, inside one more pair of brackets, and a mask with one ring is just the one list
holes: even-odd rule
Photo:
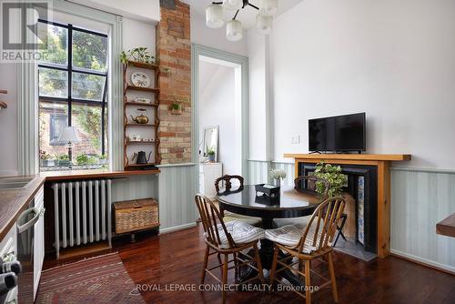
[[267, 160], [248, 160], [249, 180], [248, 184], [270, 183], [270, 169], [278, 168], [286, 171], [287, 176], [283, 182], [284, 186], [294, 185], [294, 163], [267, 161]]

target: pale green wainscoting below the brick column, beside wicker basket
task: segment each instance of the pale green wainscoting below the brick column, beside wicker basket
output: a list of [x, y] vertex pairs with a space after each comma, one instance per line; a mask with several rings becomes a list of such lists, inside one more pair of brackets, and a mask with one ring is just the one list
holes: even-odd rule
[[158, 201], [160, 232], [169, 232], [196, 225], [196, 164], [159, 167]]

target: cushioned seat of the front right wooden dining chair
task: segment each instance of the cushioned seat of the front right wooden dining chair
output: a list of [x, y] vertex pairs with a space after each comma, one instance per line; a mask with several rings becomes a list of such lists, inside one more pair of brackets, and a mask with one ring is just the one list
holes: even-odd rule
[[[321, 223], [322, 225], [322, 223]], [[303, 225], [286, 225], [276, 229], [266, 230], [266, 238], [272, 242], [278, 243], [280, 245], [294, 248], [298, 246], [300, 238], [302, 238], [303, 233], [305, 232], [305, 226]], [[319, 246], [319, 237], [316, 246], [313, 246], [313, 239], [315, 234], [316, 227], [312, 225], [308, 230], [307, 238], [305, 239], [305, 244], [303, 246], [302, 252], [305, 254], [310, 254], [315, 251]], [[330, 246], [331, 244], [328, 243]]]

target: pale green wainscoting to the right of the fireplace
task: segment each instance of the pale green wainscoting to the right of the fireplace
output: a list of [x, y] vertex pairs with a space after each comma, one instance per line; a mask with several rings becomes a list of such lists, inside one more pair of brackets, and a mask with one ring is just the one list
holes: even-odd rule
[[436, 223], [455, 212], [455, 171], [391, 168], [390, 252], [455, 272], [455, 238]]

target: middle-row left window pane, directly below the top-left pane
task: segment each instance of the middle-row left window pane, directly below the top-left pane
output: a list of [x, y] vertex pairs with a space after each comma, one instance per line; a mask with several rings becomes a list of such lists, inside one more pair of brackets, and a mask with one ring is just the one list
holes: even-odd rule
[[68, 96], [68, 73], [52, 68], [39, 67], [39, 96]]

